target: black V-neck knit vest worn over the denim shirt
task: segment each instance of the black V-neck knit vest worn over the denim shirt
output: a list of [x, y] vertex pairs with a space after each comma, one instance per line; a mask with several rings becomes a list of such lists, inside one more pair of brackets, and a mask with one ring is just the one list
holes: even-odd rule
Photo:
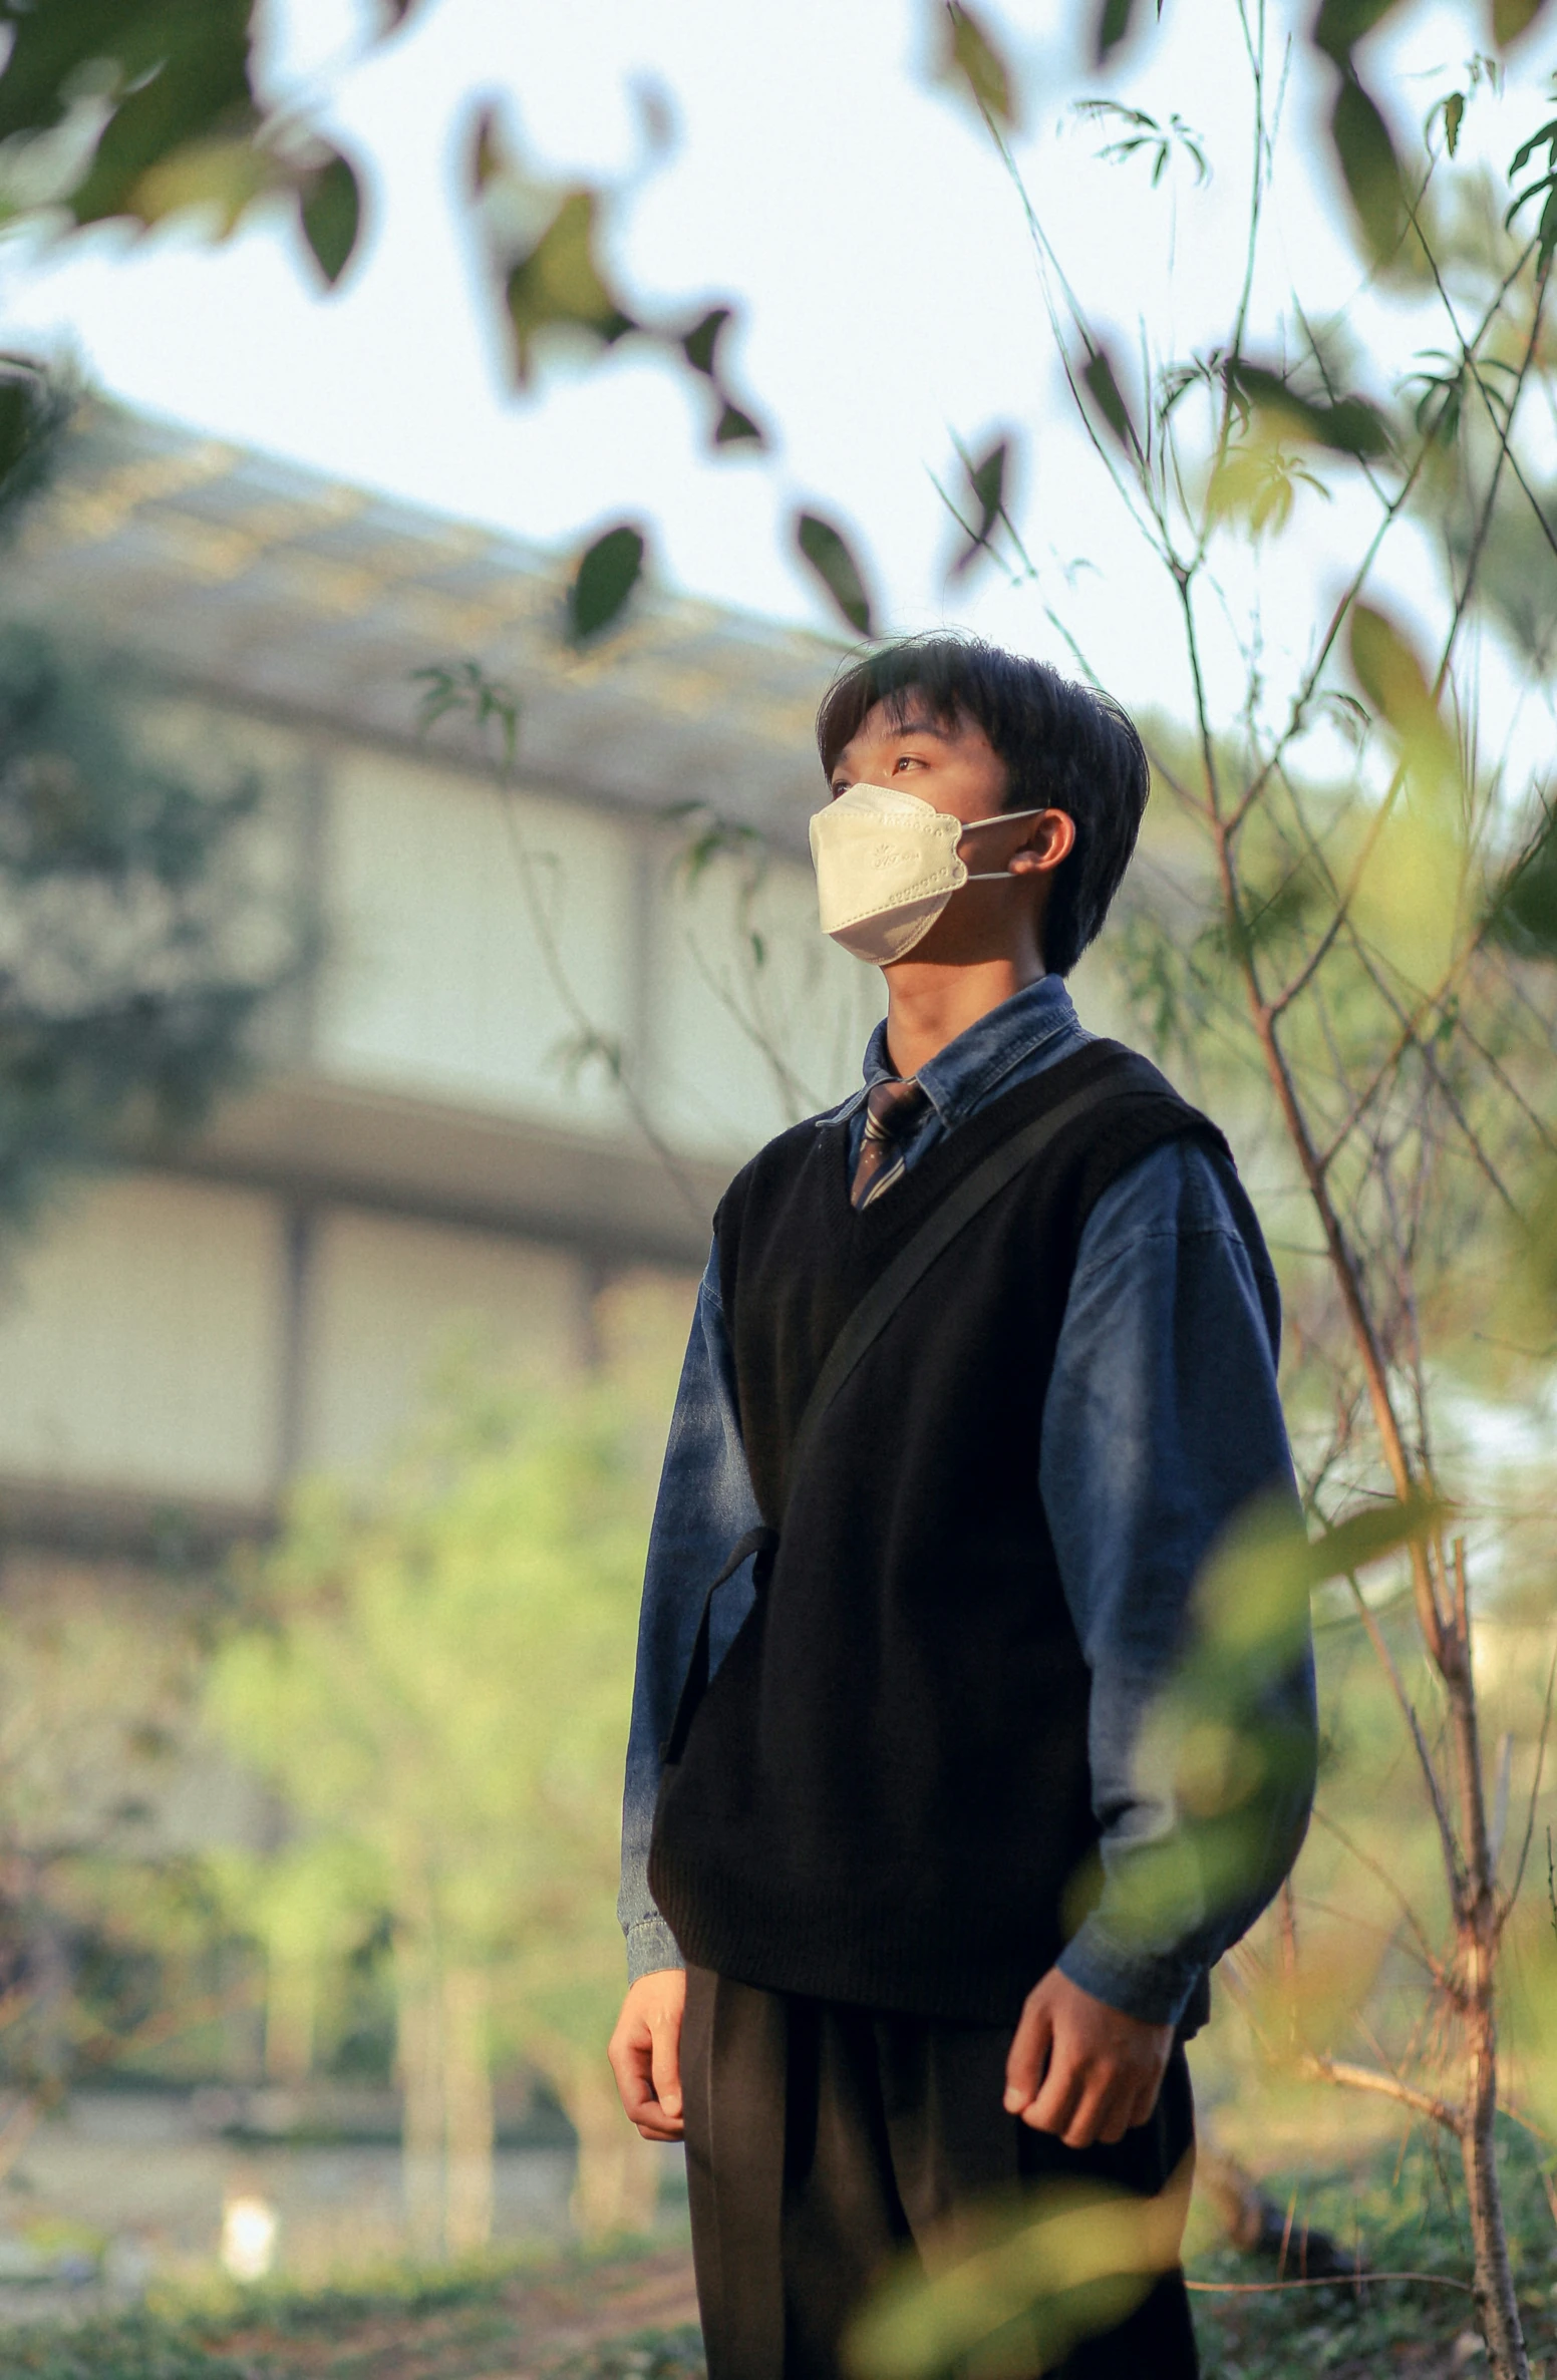
[[[788, 1449], [838, 1328], [978, 1159], [1095, 1078], [909, 1290]], [[688, 1961], [743, 1983], [1005, 2023], [1095, 1866], [1088, 1671], [1038, 1495], [1076, 1247], [1148, 1150], [1226, 1142], [1140, 1057], [1088, 1042], [848, 1200], [848, 1123], [769, 1142], [717, 1216], [771, 1580], [667, 1766], [650, 1887]], [[1107, 1490], [1105, 1490], [1107, 1492]]]

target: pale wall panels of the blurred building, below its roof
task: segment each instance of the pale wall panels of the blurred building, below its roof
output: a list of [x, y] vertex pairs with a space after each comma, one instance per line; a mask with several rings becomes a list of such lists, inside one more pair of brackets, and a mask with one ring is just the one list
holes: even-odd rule
[[[324, 928], [319, 978], [262, 1035], [269, 1083], [312, 1104], [224, 1178], [76, 1180], [19, 1240], [0, 1283], [12, 1492], [243, 1514], [295, 1471], [367, 1476], [459, 1340], [538, 1376], [583, 1361], [633, 1173], [645, 1207], [667, 1195], [643, 1123], [702, 1166], [695, 1200], [712, 1207], [752, 1147], [857, 1081], [878, 978], [817, 933], [793, 859], [738, 850], [688, 881], [686, 833], [657, 819], [524, 785], [505, 797], [438, 757], [202, 697], [150, 702], [145, 735], [212, 785], [264, 778], [238, 854], [255, 895], [243, 931], [286, 904]], [[631, 1092], [586, 1057], [588, 1038]], [[390, 1183], [388, 1159], [371, 1178], [369, 1092], [400, 1102], [395, 1128], [421, 1130], [419, 1150], [448, 1150], [436, 1197], [424, 1176]], [[345, 1185], [305, 1164], [331, 1102], [357, 1102]], [[493, 1216], [490, 1152], [462, 1209], [462, 1119], [502, 1123], [514, 1178], [526, 1133], [552, 1135], [545, 1216], [526, 1223], [521, 1197]], [[586, 1228], [607, 1159], [614, 1207]], [[683, 1214], [681, 1228], [698, 1261], [705, 1223]]]

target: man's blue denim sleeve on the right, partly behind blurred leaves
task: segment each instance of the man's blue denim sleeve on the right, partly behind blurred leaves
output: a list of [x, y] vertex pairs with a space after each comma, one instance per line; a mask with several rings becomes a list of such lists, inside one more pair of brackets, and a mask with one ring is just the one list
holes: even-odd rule
[[[1276, 1395], [1281, 1307], [1231, 1166], [1183, 1140], [1098, 1202], [1076, 1261], [1043, 1418], [1040, 1490], [1093, 1690], [1088, 1749], [1102, 1894], [1059, 1956], [1109, 2006], [1176, 2023], [1198, 1975], [1243, 1935], [1298, 1856], [1312, 1756], [1276, 1795], [1257, 1873], [1202, 1899], [1174, 1940], [1119, 1923], [1131, 1854], [1181, 1816], [1138, 1747], [1183, 1642], [1207, 1549], [1262, 1490], [1293, 1490]], [[1271, 1716], [1314, 1747], [1312, 1652], [1271, 1687]], [[1302, 1761], [1298, 1764], [1302, 1766]]]

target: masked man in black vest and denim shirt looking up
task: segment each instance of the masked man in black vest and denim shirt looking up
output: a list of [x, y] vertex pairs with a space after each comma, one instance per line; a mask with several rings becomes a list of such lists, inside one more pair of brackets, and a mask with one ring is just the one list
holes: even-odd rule
[[[1143, 1861], [1188, 1842], [1143, 1728], [1195, 1571], [1290, 1459], [1226, 1142], [1062, 981], [1140, 740], [919, 638], [843, 671], [819, 750], [821, 923], [888, 1014], [864, 1088], [719, 1207], [626, 1773], [609, 2054], [638, 2130], [686, 2137], [712, 2380], [831, 2380], [881, 2268], [981, 2199], [1183, 2178], [1183, 2035], [1312, 1790], [1305, 1652], [1236, 1899], [1143, 1918]], [[1178, 2271], [1062, 2368], [1193, 2375]]]

